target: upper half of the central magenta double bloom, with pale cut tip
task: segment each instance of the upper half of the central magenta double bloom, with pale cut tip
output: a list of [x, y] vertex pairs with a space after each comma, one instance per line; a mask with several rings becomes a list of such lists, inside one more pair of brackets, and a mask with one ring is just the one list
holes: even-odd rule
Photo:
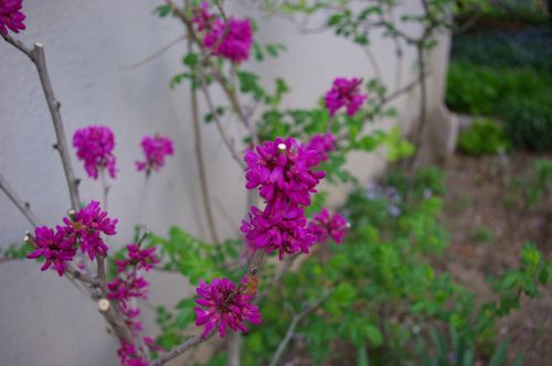
[[316, 192], [316, 185], [326, 176], [325, 172], [314, 170], [321, 160], [318, 152], [297, 146], [291, 138], [267, 141], [258, 146], [256, 152], [247, 150], [244, 160], [246, 187], [259, 186], [268, 211], [287, 201], [309, 205], [310, 193]]

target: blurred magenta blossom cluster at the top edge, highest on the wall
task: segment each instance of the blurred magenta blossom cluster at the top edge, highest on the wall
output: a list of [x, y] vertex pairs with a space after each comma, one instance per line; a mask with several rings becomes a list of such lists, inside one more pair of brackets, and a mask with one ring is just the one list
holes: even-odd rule
[[246, 61], [253, 45], [251, 21], [230, 17], [226, 23], [224, 20], [210, 14], [208, 9], [209, 6], [203, 2], [192, 20], [198, 31], [205, 32], [203, 46], [211, 49], [213, 54], [236, 64]]

